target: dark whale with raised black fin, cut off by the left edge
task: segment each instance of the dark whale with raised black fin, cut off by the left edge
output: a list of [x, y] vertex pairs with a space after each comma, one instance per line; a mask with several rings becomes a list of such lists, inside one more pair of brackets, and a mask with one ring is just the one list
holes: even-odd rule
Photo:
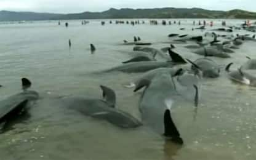
[[2, 130], [6, 127], [5, 124], [27, 109], [29, 102], [39, 98], [38, 92], [27, 90], [30, 86], [30, 80], [22, 78], [23, 92], [0, 101], [0, 124], [2, 124]]

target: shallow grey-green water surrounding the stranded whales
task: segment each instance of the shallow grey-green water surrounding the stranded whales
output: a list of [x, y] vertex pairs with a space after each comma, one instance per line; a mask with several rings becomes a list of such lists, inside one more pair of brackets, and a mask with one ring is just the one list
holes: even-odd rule
[[[148, 22], [148, 20], [145, 20]], [[242, 20], [227, 20], [238, 25]], [[20, 78], [33, 82], [41, 99], [31, 108], [28, 119], [15, 124], [13, 130], [0, 135], [1, 159], [255, 159], [256, 104], [255, 88], [235, 84], [222, 70], [220, 78], [204, 79], [196, 118], [193, 102], [180, 102], [174, 117], [185, 144], [182, 147], [165, 142], [150, 127], [119, 129], [108, 122], [87, 118], [63, 110], [54, 98], [68, 95], [102, 97], [99, 85], [111, 87], [117, 94], [117, 106], [140, 119], [140, 93], [134, 94], [122, 84], [140, 74], [97, 73], [131, 58], [122, 40], [140, 36], [154, 42], [153, 47], [167, 47], [170, 33], [202, 34], [191, 31], [192, 20], [182, 25], [100, 25], [92, 20], [70, 26], [57, 22], [31, 22], [0, 25], [1, 99], [20, 92]], [[221, 20], [215, 20], [220, 26]], [[178, 28], [188, 28], [182, 31]], [[209, 28], [209, 27], [207, 27]], [[240, 33], [241, 31], [238, 31]], [[244, 32], [243, 32], [244, 33]], [[225, 33], [224, 33], [225, 34]], [[236, 34], [236, 33], [234, 33]], [[68, 49], [71, 39], [71, 50]], [[89, 44], [97, 48], [90, 53]], [[213, 58], [225, 66], [234, 62], [237, 68], [246, 55], [255, 57], [255, 42], [246, 42], [232, 58]], [[176, 44], [183, 57], [196, 60], [182, 44]], [[190, 106], [191, 105], [191, 106]]]

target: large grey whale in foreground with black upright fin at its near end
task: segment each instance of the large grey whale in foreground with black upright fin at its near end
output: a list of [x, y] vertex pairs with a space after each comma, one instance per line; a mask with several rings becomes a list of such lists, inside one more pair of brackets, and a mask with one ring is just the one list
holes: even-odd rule
[[[180, 70], [174, 75], [177, 76], [178, 74], [180, 74]], [[176, 98], [180, 97], [172, 78], [168, 71], [162, 71], [156, 74], [151, 81], [142, 81], [143, 83], [138, 85], [134, 92], [145, 87], [139, 106], [143, 124], [150, 126], [159, 134], [164, 133], [164, 135], [167, 135], [173, 142], [183, 144], [183, 139], [180, 137], [177, 127], [170, 115], [172, 104], [176, 102]], [[195, 100], [196, 103], [198, 103], [198, 88], [195, 88]], [[162, 123], [162, 118], [169, 119], [169, 123]], [[166, 124], [172, 126], [172, 129], [167, 129]], [[169, 134], [167, 134], [166, 131], [168, 131]]]

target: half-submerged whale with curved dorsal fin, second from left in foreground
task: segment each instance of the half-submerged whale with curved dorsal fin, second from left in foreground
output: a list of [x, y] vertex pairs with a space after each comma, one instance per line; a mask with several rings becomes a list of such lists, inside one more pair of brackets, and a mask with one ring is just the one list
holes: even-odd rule
[[114, 90], [105, 86], [100, 86], [100, 88], [103, 91], [103, 99], [66, 97], [60, 99], [60, 103], [66, 108], [78, 111], [92, 118], [103, 119], [121, 128], [135, 128], [142, 125], [131, 114], [116, 108], [116, 94]]

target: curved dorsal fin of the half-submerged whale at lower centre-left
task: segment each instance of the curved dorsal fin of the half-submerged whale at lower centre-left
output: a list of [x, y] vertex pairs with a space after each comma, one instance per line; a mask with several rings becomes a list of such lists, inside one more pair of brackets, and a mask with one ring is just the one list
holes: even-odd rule
[[111, 108], [114, 108], [116, 105], [116, 94], [114, 90], [102, 85], [100, 88], [102, 89], [103, 98], [106, 100], [106, 103], [108, 103]]

